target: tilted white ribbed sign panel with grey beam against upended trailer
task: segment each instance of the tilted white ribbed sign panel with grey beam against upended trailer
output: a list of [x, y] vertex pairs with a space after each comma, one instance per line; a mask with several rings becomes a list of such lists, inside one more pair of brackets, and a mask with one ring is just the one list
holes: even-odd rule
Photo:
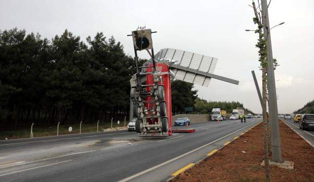
[[238, 80], [214, 74], [218, 62], [214, 57], [166, 48], [155, 55], [155, 61], [168, 63], [174, 78], [178, 80], [202, 86], [209, 86], [211, 78], [239, 84]]

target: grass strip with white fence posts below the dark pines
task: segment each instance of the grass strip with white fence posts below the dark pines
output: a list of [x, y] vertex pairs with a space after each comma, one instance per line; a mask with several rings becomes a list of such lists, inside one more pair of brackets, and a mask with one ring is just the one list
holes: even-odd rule
[[[128, 123], [126, 123], [127, 125]], [[72, 127], [72, 131], [69, 132], [68, 128]], [[117, 126], [124, 126], [124, 122], [121, 122], [119, 125], [114, 122], [112, 123], [112, 127]], [[98, 131], [103, 131], [103, 129], [110, 128], [111, 123], [99, 123]], [[97, 132], [97, 123], [82, 123], [82, 133], [88, 132]], [[62, 134], [74, 134], [80, 133], [80, 124], [65, 124], [59, 125], [59, 135]], [[57, 125], [54, 126], [33, 126], [33, 136], [53, 136], [57, 135]], [[17, 129], [17, 130], [10, 130], [10, 131], [1, 131], [0, 132], [0, 140], [8, 139], [22, 139], [22, 138], [29, 138], [30, 137], [30, 127], [27, 129]]]

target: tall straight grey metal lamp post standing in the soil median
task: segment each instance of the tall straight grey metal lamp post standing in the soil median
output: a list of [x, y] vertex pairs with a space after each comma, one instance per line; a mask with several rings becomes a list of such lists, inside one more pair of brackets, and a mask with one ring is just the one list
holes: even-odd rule
[[284, 162], [281, 153], [281, 139], [278, 123], [278, 108], [276, 83], [273, 71], [273, 58], [271, 49], [271, 38], [268, 18], [267, 0], [261, 0], [262, 4], [262, 23], [265, 38], [267, 40], [267, 88], [268, 88], [268, 113], [270, 119], [270, 143], [271, 143], [271, 161]]

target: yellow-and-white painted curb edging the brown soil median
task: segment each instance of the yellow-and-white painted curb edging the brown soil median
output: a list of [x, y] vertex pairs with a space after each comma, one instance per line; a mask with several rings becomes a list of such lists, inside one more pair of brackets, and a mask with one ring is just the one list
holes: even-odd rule
[[[225, 146], [231, 144], [233, 141], [239, 139], [244, 133], [248, 132], [249, 130], [251, 130], [252, 128], [254, 128], [255, 126], [257, 126], [258, 124], [260, 124], [260, 123], [262, 123], [262, 122], [263, 122], [263, 121], [257, 122], [254, 126], [252, 126], [251, 128], [245, 130], [245, 131], [242, 132], [240, 135], [235, 136], [235, 137], [233, 138], [233, 140], [226, 142], [223, 146], [221, 146], [221, 147], [218, 148], [218, 149], [214, 149], [213, 151], [211, 151], [210, 153], [208, 153], [205, 157], [201, 158], [200, 160], [185, 165], [184, 167], [182, 167], [181, 169], [177, 170], [177, 171], [174, 172], [173, 174], [171, 174], [171, 175], [169, 175], [168, 177], [162, 179], [161, 182], [169, 182], [169, 181], [171, 181], [172, 179], [174, 179], [175, 177], [177, 177], [178, 174], [180, 174], [180, 173], [182, 173], [182, 172], [184, 172], [184, 171], [186, 171], [186, 170], [188, 170], [188, 169], [191, 169], [192, 167], [194, 167], [195, 165], [199, 164], [199, 163], [202, 162], [202, 161], [207, 161], [211, 155], [215, 154], [216, 152], [218, 152], [220, 149], [224, 148]], [[191, 165], [191, 164], [193, 164], [193, 165]], [[178, 171], [180, 171], [180, 173], [178, 173]], [[178, 173], [178, 174], [174, 175], [175, 173]]]

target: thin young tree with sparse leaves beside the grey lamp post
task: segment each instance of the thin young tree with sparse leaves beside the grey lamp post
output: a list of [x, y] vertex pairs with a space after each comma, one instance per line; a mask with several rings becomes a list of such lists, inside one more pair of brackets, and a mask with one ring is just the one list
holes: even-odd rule
[[[254, 1], [252, 2], [252, 8], [254, 10], [255, 17], [253, 18], [254, 24], [258, 25], [255, 33], [258, 33], [259, 38], [256, 47], [259, 49], [259, 62], [262, 70], [262, 110], [263, 110], [263, 157], [265, 162], [265, 177], [266, 181], [270, 181], [269, 172], [269, 154], [268, 154], [268, 119], [266, 117], [267, 112], [267, 90], [266, 90], [266, 73], [267, 73], [267, 43], [265, 40], [264, 33], [262, 31], [263, 25], [261, 23], [261, 10], [257, 11]], [[259, 5], [258, 5], [259, 7]]]

